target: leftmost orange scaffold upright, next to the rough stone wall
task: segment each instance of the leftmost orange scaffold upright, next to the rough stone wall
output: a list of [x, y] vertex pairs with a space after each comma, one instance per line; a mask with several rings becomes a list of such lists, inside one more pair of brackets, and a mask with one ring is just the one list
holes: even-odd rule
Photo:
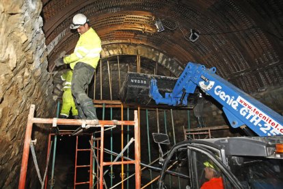
[[18, 184], [19, 189], [25, 188], [25, 179], [27, 177], [27, 163], [29, 160], [29, 144], [31, 142], [31, 131], [33, 125], [33, 114], [35, 110], [35, 105], [32, 104], [29, 109], [29, 116], [27, 116], [27, 129], [25, 129], [25, 143], [23, 149], [22, 165], [21, 165], [21, 175]]

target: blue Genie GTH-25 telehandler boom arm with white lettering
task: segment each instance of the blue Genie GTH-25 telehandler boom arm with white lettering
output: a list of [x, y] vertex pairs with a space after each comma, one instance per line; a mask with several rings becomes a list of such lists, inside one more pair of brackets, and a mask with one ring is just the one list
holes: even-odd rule
[[151, 79], [150, 97], [157, 104], [185, 106], [187, 98], [198, 86], [206, 95], [223, 105], [224, 114], [232, 127], [246, 125], [258, 136], [283, 135], [283, 116], [219, 77], [215, 71], [215, 67], [208, 69], [201, 64], [189, 62], [172, 92], [166, 92], [165, 97], [159, 93], [157, 80]]

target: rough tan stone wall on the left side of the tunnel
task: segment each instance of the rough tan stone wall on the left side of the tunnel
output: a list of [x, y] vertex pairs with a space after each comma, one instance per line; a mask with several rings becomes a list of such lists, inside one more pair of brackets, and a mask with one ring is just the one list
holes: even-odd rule
[[[30, 105], [36, 105], [36, 117], [52, 117], [55, 110], [41, 9], [41, 1], [0, 1], [0, 188], [18, 188]], [[41, 174], [48, 127], [33, 124]], [[26, 184], [39, 188], [31, 155]]]

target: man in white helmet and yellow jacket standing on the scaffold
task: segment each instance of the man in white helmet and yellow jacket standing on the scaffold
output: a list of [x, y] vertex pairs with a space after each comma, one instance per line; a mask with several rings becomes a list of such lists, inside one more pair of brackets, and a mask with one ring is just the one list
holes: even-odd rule
[[72, 54], [55, 61], [56, 66], [70, 64], [74, 70], [72, 75], [72, 95], [75, 99], [79, 117], [82, 119], [97, 119], [92, 99], [87, 97], [85, 90], [92, 81], [94, 70], [100, 59], [101, 41], [96, 31], [89, 25], [89, 20], [83, 14], [72, 18], [70, 29], [77, 29], [80, 37]]

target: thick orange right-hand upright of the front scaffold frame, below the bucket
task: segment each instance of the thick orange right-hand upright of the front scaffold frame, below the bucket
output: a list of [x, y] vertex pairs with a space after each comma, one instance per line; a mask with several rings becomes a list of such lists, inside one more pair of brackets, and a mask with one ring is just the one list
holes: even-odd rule
[[[141, 188], [140, 180], [140, 165], [139, 165], [139, 118], [137, 116], [137, 110], [135, 110], [135, 189]], [[100, 188], [103, 189], [103, 188]]]

